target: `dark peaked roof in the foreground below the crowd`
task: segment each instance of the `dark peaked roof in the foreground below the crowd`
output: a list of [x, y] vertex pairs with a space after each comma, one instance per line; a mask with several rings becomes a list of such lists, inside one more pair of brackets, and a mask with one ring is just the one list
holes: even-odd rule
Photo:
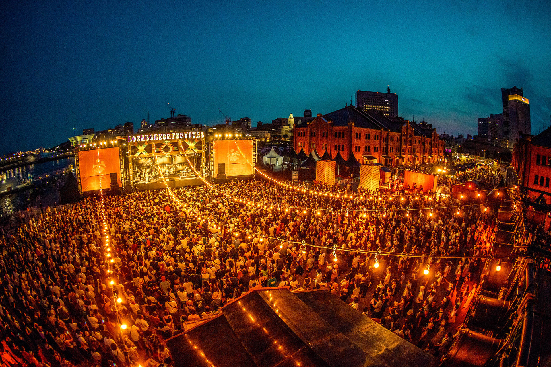
[[176, 367], [423, 366], [436, 359], [325, 289], [262, 288], [168, 339]]

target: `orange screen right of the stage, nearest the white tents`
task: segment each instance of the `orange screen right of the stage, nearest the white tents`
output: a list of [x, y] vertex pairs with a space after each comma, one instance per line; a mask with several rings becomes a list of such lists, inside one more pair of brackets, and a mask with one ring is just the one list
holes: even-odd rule
[[226, 176], [247, 176], [253, 174], [252, 166], [237, 149], [252, 163], [252, 140], [215, 140], [213, 148], [214, 177], [218, 176], [218, 163], [225, 163]]

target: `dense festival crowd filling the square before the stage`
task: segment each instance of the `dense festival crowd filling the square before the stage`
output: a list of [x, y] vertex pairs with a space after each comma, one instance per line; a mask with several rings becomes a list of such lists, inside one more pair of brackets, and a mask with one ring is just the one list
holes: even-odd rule
[[166, 190], [106, 195], [111, 264], [99, 198], [21, 218], [1, 238], [2, 363], [170, 365], [166, 338], [250, 289], [277, 286], [329, 288], [443, 352], [476, 288], [495, 212], [444, 195], [359, 189], [350, 199], [350, 188], [328, 189], [232, 181], [176, 189], [182, 206]]

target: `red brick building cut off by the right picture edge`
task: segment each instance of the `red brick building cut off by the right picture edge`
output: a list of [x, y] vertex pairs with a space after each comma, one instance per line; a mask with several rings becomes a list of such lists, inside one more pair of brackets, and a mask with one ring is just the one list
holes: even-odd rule
[[536, 136], [521, 135], [511, 163], [528, 196], [532, 200], [541, 196], [545, 204], [551, 204], [551, 128]]

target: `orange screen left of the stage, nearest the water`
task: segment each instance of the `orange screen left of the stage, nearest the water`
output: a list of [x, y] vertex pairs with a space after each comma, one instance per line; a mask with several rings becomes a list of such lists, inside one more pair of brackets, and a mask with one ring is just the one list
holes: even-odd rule
[[111, 173], [117, 174], [118, 187], [121, 183], [121, 164], [118, 159], [118, 147], [100, 149], [99, 159], [98, 150], [84, 150], [78, 152], [78, 163], [80, 171], [80, 185], [82, 192], [100, 189], [101, 187], [109, 189], [111, 187]]

